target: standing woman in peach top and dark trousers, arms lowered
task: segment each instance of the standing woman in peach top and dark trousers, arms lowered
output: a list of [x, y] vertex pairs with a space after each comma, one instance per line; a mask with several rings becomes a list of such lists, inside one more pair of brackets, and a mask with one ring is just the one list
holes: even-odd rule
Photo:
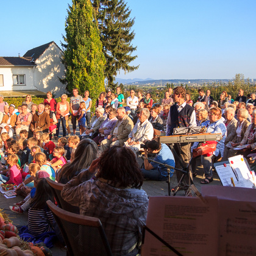
[[62, 122], [63, 137], [66, 137], [66, 120], [68, 120], [69, 116], [69, 103], [66, 101], [67, 98], [68, 96], [66, 94], [62, 94], [62, 101], [58, 102], [56, 105], [56, 118], [58, 119], [58, 123], [55, 137], [59, 136], [60, 122]]

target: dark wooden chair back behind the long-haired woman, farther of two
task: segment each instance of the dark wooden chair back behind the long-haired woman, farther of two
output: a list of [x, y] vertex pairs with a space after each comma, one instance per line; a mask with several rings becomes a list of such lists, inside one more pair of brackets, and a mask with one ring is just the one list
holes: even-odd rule
[[79, 207], [73, 206], [68, 202], [66, 202], [60, 194], [65, 184], [54, 182], [49, 177], [47, 177], [46, 180], [51, 187], [52, 194], [54, 195], [55, 200], [57, 201], [57, 204], [59, 205], [59, 207], [68, 212], [79, 214]]

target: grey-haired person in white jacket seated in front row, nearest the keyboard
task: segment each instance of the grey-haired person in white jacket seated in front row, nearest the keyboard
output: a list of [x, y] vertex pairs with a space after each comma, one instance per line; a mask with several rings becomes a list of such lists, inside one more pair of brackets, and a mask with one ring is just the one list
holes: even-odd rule
[[148, 120], [149, 116], [148, 108], [142, 108], [140, 110], [138, 117], [140, 122], [135, 124], [128, 136], [128, 140], [124, 143], [127, 148], [132, 149], [134, 152], [140, 151], [140, 145], [145, 141], [152, 140], [154, 137], [154, 128]]

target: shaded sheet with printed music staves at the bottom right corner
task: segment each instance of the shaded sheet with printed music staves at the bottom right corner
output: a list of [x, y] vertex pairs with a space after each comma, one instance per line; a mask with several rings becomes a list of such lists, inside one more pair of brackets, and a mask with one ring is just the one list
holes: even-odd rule
[[219, 255], [255, 255], [256, 202], [219, 200]]

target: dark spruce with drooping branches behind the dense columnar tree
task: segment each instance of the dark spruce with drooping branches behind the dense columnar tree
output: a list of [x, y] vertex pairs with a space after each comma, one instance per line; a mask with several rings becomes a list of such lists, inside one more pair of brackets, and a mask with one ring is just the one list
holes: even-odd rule
[[130, 10], [124, 0], [91, 0], [95, 19], [98, 21], [103, 52], [106, 63], [104, 75], [108, 87], [115, 90], [115, 76], [121, 69], [126, 72], [138, 69], [130, 65], [137, 58], [132, 52], [137, 49], [131, 42], [135, 33], [131, 30], [134, 18], [130, 19]]

